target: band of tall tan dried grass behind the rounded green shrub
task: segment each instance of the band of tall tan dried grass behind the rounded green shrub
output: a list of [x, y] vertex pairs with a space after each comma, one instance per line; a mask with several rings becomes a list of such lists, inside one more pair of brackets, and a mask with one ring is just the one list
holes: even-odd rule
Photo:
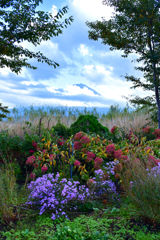
[[[39, 129], [41, 119], [41, 127], [51, 129], [58, 122], [61, 122], [67, 127], [70, 127], [73, 122], [76, 121], [76, 116], [48, 116], [43, 118], [34, 118], [33, 120], [26, 121], [25, 119], [21, 121], [8, 121], [0, 122], [0, 131], [6, 130], [10, 135], [24, 136], [24, 133], [29, 134], [35, 133]], [[125, 133], [128, 133], [130, 129], [134, 132], [140, 132], [141, 129], [146, 125], [153, 125], [150, 120], [149, 114], [144, 113], [134, 113], [114, 116], [112, 119], [108, 119], [107, 115], [103, 118], [99, 118], [102, 125], [111, 129], [113, 126], [118, 126], [123, 129]], [[31, 126], [28, 124], [31, 123]]]

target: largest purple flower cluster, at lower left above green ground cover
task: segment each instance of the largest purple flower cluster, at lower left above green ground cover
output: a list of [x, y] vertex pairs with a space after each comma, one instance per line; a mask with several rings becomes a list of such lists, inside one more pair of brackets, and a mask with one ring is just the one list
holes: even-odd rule
[[[40, 206], [40, 215], [47, 210], [52, 211], [52, 219], [67, 217], [66, 208], [70, 203], [83, 202], [90, 197], [89, 189], [78, 181], [66, 178], [60, 180], [59, 173], [45, 174], [30, 182], [30, 195], [27, 204]], [[74, 206], [75, 207], [75, 206]]]

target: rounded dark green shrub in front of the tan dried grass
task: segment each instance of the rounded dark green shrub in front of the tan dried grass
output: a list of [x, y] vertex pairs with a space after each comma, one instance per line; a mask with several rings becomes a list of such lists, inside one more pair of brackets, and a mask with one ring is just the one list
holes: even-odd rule
[[80, 115], [78, 119], [70, 127], [71, 133], [77, 132], [95, 133], [100, 136], [109, 136], [109, 130], [99, 123], [94, 115]]

